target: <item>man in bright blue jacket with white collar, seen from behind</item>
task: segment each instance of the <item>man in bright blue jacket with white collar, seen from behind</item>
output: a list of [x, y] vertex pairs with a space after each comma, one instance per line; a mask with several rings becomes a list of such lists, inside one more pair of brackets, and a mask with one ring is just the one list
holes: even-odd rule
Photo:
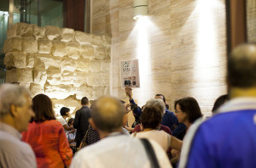
[[230, 102], [189, 129], [180, 167], [256, 167], [256, 46], [243, 44], [228, 60]]

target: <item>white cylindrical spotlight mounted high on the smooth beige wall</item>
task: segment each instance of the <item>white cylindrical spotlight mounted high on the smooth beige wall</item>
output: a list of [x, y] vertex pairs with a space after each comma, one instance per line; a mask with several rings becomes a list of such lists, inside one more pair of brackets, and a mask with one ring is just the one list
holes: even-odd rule
[[144, 15], [148, 15], [148, 0], [134, 0], [133, 8], [133, 20], [137, 20]]

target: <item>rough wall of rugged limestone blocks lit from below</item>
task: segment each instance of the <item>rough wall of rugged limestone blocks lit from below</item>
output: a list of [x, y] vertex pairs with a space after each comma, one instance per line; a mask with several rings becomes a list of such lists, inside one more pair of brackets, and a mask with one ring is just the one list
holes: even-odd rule
[[111, 37], [55, 26], [15, 24], [4, 42], [6, 82], [45, 93], [55, 112], [109, 94]]

